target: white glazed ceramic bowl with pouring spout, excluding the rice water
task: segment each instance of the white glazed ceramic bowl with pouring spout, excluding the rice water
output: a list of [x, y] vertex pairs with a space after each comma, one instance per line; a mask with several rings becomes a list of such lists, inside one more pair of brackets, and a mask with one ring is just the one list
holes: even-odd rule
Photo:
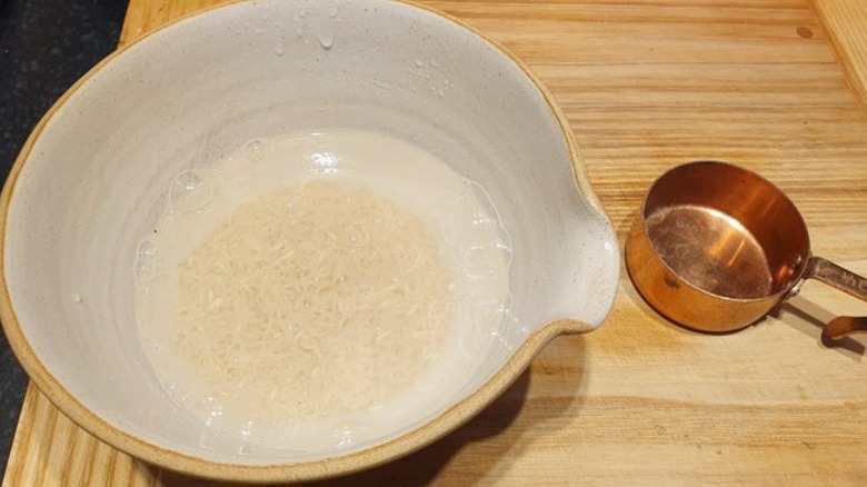
[[[150, 370], [131, 256], [173, 175], [255, 137], [322, 127], [388, 133], [479, 181], [511, 236], [516, 320], [411, 425], [316, 457], [239, 455], [207, 441]], [[618, 279], [614, 232], [550, 95], [478, 31], [397, 1], [239, 2], [147, 36], [49, 111], [0, 203], [0, 316], [39, 388], [124, 451], [222, 479], [319, 478], [418, 449], [482, 409], [550, 338], [598, 327]]]

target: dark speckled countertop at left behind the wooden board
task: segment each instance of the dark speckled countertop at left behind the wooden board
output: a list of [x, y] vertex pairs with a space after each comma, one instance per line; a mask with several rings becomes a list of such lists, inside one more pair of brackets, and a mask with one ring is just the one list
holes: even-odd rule
[[[6, 180], [42, 113], [117, 46], [128, 0], [0, 0], [0, 166]], [[0, 334], [0, 466], [27, 377]], [[1, 475], [0, 475], [1, 477]]]

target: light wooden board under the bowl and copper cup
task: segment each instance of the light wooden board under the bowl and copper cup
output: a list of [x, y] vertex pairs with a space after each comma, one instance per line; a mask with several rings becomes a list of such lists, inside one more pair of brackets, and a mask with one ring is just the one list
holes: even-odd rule
[[[122, 42], [211, 3], [132, 0]], [[428, 3], [538, 72], [621, 242], [665, 169], [721, 159], [783, 187], [815, 252], [867, 275], [859, 0]], [[456, 433], [336, 483], [867, 485], [867, 339], [825, 348], [834, 314], [867, 305], [808, 282], [777, 317], [698, 335], [656, 316], [624, 271], [601, 329], [556, 339]], [[3, 485], [209, 484], [99, 443], [31, 387]]]

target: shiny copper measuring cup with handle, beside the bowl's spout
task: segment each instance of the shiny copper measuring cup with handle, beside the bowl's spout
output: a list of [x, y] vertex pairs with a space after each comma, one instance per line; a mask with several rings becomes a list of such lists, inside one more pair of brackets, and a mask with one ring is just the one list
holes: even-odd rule
[[[650, 187], [626, 242], [638, 291], [661, 315], [726, 332], [764, 318], [817, 279], [867, 301], [867, 279], [810, 252], [798, 209], [747, 169], [698, 161]], [[867, 331], [867, 317], [837, 317], [825, 335]]]

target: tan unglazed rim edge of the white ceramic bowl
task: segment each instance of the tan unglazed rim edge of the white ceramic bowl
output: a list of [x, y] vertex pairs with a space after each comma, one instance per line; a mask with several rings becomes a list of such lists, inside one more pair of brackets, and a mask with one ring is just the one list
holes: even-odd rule
[[[601, 209], [601, 205], [598, 197], [592, 191], [589, 178], [587, 176], [584, 158], [581, 157], [578, 145], [575, 139], [575, 135], [569, 127], [568, 119], [560, 110], [557, 103], [554, 101], [554, 97], [542, 85], [541, 80], [530, 70], [530, 68], [521, 61], [517, 56], [511, 53], [500, 42], [482, 33], [477, 28], [457, 19], [456, 17], [437, 9], [430, 8], [425, 4], [420, 4], [415, 0], [382, 0], [383, 2], [400, 3], [409, 7], [413, 7], [423, 10], [428, 13], [438, 16], [440, 19], [452, 22], [467, 32], [476, 36], [481, 41], [488, 43], [498, 50], [501, 54], [509, 58], [519, 70], [527, 77], [527, 79], [537, 89], [542, 97], [545, 103], [548, 106], [551, 115], [556, 119], [558, 127], [566, 141], [569, 159], [571, 162], [572, 176], [578, 190], [582, 193], [589, 206], [598, 213], [598, 217], [605, 221], [610, 229], [611, 225], [607, 215]], [[223, 3], [210, 6], [188, 14], [173, 19], [156, 29], [148, 31], [141, 37], [134, 39], [132, 42], [126, 43], [107, 56], [87, 73], [84, 73], [78, 81], [76, 81], [46, 112], [39, 120], [37, 126], [31, 131], [27, 141], [22, 146], [18, 157], [9, 171], [9, 176], [3, 185], [2, 193], [0, 193], [0, 320], [2, 321], [2, 328], [6, 332], [7, 339], [12, 348], [12, 351], [17, 356], [22, 368], [27, 371], [30, 379], [36, 384], [39, 390], [44, 394], [49, 400], [57, 406], [67, 417], [69, 417], [76, 425], [93, 435], [98, 439], [111, 445], [112, 447], [131, 455], [134, 458], [139, 458], [157, 467], [168, 468], [181, 474], [192, 475], [197, 477], [211, 478], [216, 480], [229, 480], [229, 481], [248, 481], [248, 483], [278, 483], [278, 481], [301, 481], [301, 480], [316, 480], [322, 478], [329, 478], [346, 474], [351, 474], [362, 469], [371, 468], [387, 461], [395, 460], [402, 456], [409, 455], [423, 446], [429, 445], [436, 439], [447, 435], [454, 429], [461, 426], [469, 420], [476, 414], [481, 411], [490, 402], [494, 401], [506, 388], [508, 388], [524, 370], [529, 366], [530, 361], [538, 355], [538, 352], [547, 345], [551, 339], [559, 335], [565, 334], [579, 334], [586, 332], [598, 327], [599, 324], [585, 324], [576, 319], [559, 319], [547, 322], [540, 326], [537, 330], [530, 334], [527, 339], [515, 350], [512, 356], [504, 364], [504, 366], [495, 372], [485, 384], [482, 384], [476, 391], [467, 396], [461, 401], [451, 406], [429, 423], [410, 430], [397, 438], [393, 438], [387, 443], [366, 448], [359, 451], [350, 453], [348, 455], [338, 455], [333, 457], [326, 457], [311, 461], [296, 463], [296, 464], [277, 464], [277, 465], [247, 465], [247, 464], [231, 464], [225, 461], [209, 460], [197, 456], [179, 453], [176, 450], [167, 449], [146, 440], [142, 440], [130, 433], [127, 433], [104, 419], [100, 418], [97, 414], [88, 409], [81, 404], [71, 392], [69, 392], [60, 381], [46, 368], [41, 362], [37, 354], [28, 342], [20, 322], [16, 316], [14, 308], [12, 306], [11, 297], [9, 295], [9, 288], [6, 277], [6, 235], [7, 222], [12, 198], [14, 197], [14, 189], [18, 178], [27, 163], [30, 152], [34, 145], [39, 140], [42, 131], [53, 118], [54, 113], [63, 107], [67, 101], [88, 82], [97, 72], [106, 68], [107, 64], [112, 62], [119, 56], [122, 56], [128, 49], [137, 46], [139, 42], [146, 42], [151, 36], [158, 34], [163, 29], [168, 29], [177, 23], [187, 21], [203, 12], [209, 12], [217, 9], [227, 8], [230, 6], [250, 2], [256, 0], [229, 0]], [[619, 259], [618, 259], [619, 260]], [[615, 280], [619, 280], [619, 274], [614, 276]], [[612, 286], [616, 289], [617, 286]], [[614, 306], [614, 297], [610, 299], [608, 309], [604, 316], [610, 312]]]

